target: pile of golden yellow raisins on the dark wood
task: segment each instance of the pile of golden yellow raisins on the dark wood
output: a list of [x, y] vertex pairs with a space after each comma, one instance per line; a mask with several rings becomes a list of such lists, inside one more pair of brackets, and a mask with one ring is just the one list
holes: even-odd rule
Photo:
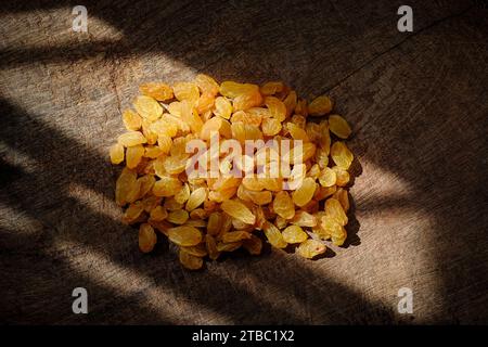
[[[179, 246], [188, 269], [200, 269], [206, 256], [217, 259], [240, 247], [259, 254], [259, 230], [277, 248], [298, 245], [296, 252], [306, 258], [324, 253], [325, 240], [343, 245], [352, 153], [342, 140], [351, 129], [338, 115], [314, 118], [331, 113], [330, 98], [307, 103], [279, 81], [260, 87], [218, 85], [206, 75], [172, 87], [145, 83], [140, 91], [134, 111], [123, 115], [129, 131], [110, 155], [113, 164], [126, 163], [115, 198], [119, 206], [128, 205], [124, 221], [140, 224], [142, 252], [153, 249], [155, 230]], [[192, 139], [209, 141], [213, 131], [241, 143], [301, 140], [303, 160], [294, 162], [293, 155], [291, 159], [291, 181], [300, 184], [286, 191], [281, 177], [236, 178], [226, 167], [220, 167], [218, 178], [189, 178], [191, 154], [185, 144]]]

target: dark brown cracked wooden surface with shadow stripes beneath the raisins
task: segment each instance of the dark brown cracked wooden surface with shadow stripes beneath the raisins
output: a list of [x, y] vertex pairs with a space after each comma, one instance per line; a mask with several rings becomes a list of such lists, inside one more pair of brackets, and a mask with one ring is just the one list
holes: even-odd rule
[[[88, 34], [75, 3], [0, 4], [2, 323], [488, 322], [484, 1], [410, 1], [411, 34], [402, 1], [82, 4]], [[107, 147], [140, 82], [198, 72], [334, 98], [361, 167], [347, 247], [193, 273], [167, 243], [138, 250]], [[89, 314], [72, 312], [77, 286]]]

